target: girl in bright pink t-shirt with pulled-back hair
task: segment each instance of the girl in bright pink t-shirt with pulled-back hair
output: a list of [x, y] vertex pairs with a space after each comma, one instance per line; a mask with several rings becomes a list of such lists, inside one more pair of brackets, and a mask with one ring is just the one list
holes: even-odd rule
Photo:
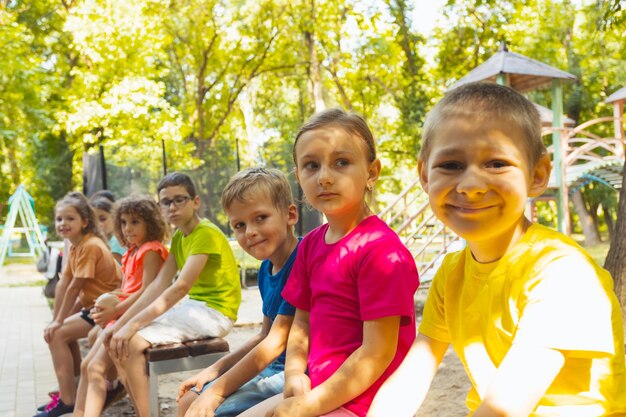
[[367, 205], [381, 164], [363, 118], [316, 114], [300, 128], [293, 155], [306, 199], [328, 223], [302, 240], [283, 291], [297, 309], [284, 396], [243, 415], [365, 416], [415, 338], [417, 269]]

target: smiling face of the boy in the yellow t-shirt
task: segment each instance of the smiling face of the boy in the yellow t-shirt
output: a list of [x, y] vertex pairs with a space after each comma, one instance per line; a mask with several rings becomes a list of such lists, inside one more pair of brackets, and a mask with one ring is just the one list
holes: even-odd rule
[[433, 212], [481, 262], [498, 259], [519, 240], [528, 197], [547, 185], [550, 161], [542, 157], [530, 167], [522, 135], [497, 118], [457, 117], [438, 127], [428, 159], [419, 161]]

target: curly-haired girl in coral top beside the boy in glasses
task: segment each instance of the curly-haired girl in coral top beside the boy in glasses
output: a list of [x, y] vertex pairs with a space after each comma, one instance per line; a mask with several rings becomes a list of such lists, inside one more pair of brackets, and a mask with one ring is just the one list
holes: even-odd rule
[[[91, 312], [94, 321], [105, 327], [120, 317], [139, 298], [154, 280], [167, 258], [163, 246], [167, 224], [159, 206], [150, 197], [127, 197], [119, 201], [115, 213], [115, 234], [120, 243], [128, 247], [122, 256], [124, 281], [117, 302], [96, 302]], [[107, 393], [107, 373], [113, 369], [113, 361], [104, 346], [105, 331], [101, 331], [94, 346], [81, 365], [74, 416], [99, 416], [107, 397], [120, 388]]]

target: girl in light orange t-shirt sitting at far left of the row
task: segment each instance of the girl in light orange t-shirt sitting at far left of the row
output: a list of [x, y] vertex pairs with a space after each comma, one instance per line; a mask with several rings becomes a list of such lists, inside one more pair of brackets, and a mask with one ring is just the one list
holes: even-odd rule
[[[98, 231], [94, 211], [84, 195], [70, 192], [57, 203], [55, 226], [59, 237], [68, 239], [71, 247], [56, 287], [54, 319], [44, 329], [60, 395], [58, 402], [39, 414], [44, 417], [71, 412], [76, 394], [74, 375], [80, 366], [77, 340], [87, 336], [95, 325], [89, 317], [95, 299], [116, 288], [121, 278], [119, 266]], [[82, 310], [76, 312], [76, 306]]]

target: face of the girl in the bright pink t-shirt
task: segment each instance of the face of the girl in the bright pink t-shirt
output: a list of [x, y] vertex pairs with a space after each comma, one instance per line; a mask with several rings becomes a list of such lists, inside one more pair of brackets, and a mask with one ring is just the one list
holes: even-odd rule
[[370, 162], [367, 155], [363, 139], [335, 126], [298, 138], [296, 176], [309, 203], [329, 220], [367, 215], [366, 190], [380, 174], [380, 161]]

